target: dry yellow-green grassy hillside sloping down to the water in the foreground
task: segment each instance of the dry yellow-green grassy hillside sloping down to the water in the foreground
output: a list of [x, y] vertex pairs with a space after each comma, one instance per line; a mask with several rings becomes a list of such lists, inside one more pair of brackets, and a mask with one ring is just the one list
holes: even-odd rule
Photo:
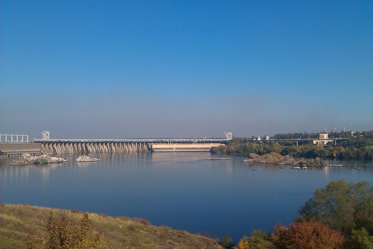
[[[78, 223], [82, 213], [76, 210], [61, 210], [37, 206], [11, 205], [0, 206], [0, 245], [1, 248], [26, 248], [26, 236], [37, 231], [45, 233], [45, 220], [50, 211], [57, 219], [63, 214], [66, 219]], [[216, 240], [187, 231], [173, 230], [166, 226], [154, 226], [139, 218], [108, 217], [103, 214], [89, 213], [91, 220], [90, 236], [103, 231], [103, 240], [109, 248], [222, 248]]]

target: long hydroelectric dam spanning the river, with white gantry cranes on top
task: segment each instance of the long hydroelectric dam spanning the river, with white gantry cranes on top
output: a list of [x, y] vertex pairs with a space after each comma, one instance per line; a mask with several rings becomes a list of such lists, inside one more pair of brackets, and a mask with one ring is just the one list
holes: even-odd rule
[[82, 154], [112, 152], [172, 152], [209, 151], [213, 146], [228, 143], [226, 138], [182, 138], [182, 139], [49, 139], [49, 132], [43, 131], [43, 139], [34, 140], [41, 144], [44, 154]]

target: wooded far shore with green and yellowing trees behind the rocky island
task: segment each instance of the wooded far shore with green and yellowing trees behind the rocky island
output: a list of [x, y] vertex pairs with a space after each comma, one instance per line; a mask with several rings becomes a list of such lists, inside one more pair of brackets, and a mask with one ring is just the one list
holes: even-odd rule
[[[306, 136], [306, 137], [304, 137]], [[309, 134], [289, 133], [275, 134], [274, 139], [309, 138]], [[212, 147], [213, 153], [264, 155], [276, 152], [283, 156], [297, 158], [338, 158], [338, 159], [373, 159], [373, 131], [330, 133], [329, 138], [348, 138], [347, 140], [330, 141], [327, 146], [311, 144], [310, 141], [255, 141], [253, 137], [233, 138], [226, 146]]]

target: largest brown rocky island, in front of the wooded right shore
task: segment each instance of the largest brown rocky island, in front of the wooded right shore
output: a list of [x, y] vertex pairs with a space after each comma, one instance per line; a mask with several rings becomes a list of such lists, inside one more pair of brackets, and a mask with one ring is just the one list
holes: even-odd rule
[[303, 165], [303, 166], [323, 166], [323, 161], [320, 158], [316, 159], [297, 159], [292, 156], [282, 156], [278, 153], [271, 152], [260, 156], [255, 153], [250, 153], [250, 156], [242, 162], [259, 162], [267, 164], [280, 164], [280, 165]]

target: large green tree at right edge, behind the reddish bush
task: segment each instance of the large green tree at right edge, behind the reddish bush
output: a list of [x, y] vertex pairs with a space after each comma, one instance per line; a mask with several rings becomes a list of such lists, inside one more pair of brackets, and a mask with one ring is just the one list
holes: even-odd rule
[[373, 187], [367, 181], [331, 181], [325, 189], [317, 189], [299, 212], [297, 221], [322, 222], [347, 236], [353, 229], [365, 227], [372, 235]]

